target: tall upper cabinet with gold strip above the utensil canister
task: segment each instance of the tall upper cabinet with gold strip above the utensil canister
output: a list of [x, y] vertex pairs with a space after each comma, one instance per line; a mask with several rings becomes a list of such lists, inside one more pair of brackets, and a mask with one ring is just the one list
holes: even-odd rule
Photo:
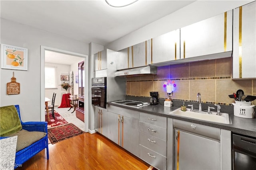
[[233, 78], [256, 78], [256, 2], [234, 9]]

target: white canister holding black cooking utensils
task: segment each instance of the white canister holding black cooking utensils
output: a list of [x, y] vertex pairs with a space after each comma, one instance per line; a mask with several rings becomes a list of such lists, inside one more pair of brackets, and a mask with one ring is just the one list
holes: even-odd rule
[[254, 117], [254, 105], [251, 105], [252, 102], [240, 102], [235, 101], [236, 103], [232, 103], [234, 105], [234, 115], [237, 117], [244, 118], [253, 118]]

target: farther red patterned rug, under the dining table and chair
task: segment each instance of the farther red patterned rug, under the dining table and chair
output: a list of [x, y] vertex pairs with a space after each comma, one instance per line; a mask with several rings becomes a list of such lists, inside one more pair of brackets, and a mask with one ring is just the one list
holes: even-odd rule
[[48, 121], [48, 118], [47, 118], [47, 113], [45, 112], [45, 121], [47, 121], [47, 128], [52, 128], [52, 127], [55, 127], [55, 126], [60, 126], [60, 125], [64, 125], [64, 124], [67, 124], [68, 122], [61, 116], [59, 115], [59, 113], [57, 113], [55, 110], [54, 110], [54, 116], [55, 116], [55, 119], [53, 119], [52, 117], [52, 112], [49, 111], [49, 117], [50, 117], [50, 121]]

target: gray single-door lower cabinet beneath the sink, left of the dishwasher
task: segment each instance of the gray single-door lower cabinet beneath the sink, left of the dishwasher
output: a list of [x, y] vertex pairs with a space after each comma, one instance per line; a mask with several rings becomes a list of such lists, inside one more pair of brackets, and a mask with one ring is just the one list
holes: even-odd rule
[[[221, 169], [220, 129], [179, 120], [174, 120], [174, 128], [174, 169]], [[208, 133], [201, 135], [200, 131]]]

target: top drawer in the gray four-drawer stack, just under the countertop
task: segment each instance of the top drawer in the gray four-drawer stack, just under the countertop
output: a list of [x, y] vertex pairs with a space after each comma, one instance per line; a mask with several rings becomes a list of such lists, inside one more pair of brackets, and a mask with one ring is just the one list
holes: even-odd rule
[[167, 127], [167, 117], [163, 116], [140, 112], [140, 121], [160, 126], [163, 128]]

